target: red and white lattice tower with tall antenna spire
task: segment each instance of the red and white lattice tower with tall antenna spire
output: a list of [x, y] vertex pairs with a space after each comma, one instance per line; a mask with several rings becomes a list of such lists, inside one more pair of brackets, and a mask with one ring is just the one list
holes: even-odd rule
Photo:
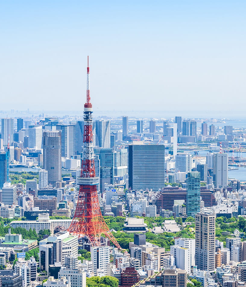
[[87, 91], [84, 104], [84, 145], [81, 175], [77, 178], [80, 186], [77, 207], [68, 231], [78, 237], [86, 237], [93, 247], [101, 246], [104, 234], [116, 247], [121, 248], [105, 223], [96, 190], [99, 178], [95, 175], [92, 138], [92, 104], [89, 89], [89, 60], [87, 65]]

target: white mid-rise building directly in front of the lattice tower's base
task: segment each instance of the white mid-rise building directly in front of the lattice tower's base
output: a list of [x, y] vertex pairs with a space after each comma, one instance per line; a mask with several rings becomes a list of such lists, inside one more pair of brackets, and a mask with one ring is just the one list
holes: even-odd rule
[[101, 276], [107, 275], [107, 266], [109, 263], [109, 247], [91, 247], [91, 261], [93, 264], [93, 273]]

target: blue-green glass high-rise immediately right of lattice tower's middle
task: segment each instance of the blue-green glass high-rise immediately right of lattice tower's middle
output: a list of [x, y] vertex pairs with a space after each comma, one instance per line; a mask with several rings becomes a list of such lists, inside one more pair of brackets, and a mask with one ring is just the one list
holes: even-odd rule
[[114, 151], [112, 148], [96, 147], [94, 154], [100, 160], [100, 190], [104, 190], [104, 185], [114, 183]]

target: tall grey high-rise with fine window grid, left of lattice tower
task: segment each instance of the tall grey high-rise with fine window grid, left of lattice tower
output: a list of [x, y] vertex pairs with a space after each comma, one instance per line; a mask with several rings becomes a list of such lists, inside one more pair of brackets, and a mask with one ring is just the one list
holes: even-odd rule
[[48, 172], [48, 183], [55, 186], [62, 180], [62, 144], [61, 132], [43, 133], [43, 167]]

